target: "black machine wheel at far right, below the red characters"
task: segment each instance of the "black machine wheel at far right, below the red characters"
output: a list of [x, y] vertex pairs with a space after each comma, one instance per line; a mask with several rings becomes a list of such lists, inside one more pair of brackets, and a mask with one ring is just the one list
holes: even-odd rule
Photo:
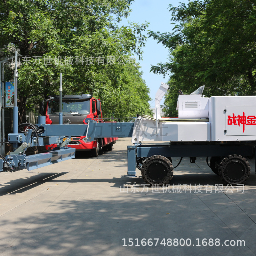
[[250, 174], [250, 164], [243, 156], [227, 156], [220, 162], [219, 176], [225, 184], [244, 184]]

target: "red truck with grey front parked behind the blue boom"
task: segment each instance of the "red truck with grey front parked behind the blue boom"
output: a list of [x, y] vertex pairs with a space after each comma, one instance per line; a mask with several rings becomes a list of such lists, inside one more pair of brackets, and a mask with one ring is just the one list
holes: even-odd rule
[[[54, 96], [46, 100], [46, 124], [59, 124], [60, 97]], [[66, 95], [62, 97], [63, 124], [86, 124], [85, 119], [91, 118], [96, 122], [102, 119], [101, 100], [91, 94]], [[98, 138], [87, 142], [86, 136], [71, 137], [68, 146], [76, 151], [90, 150], [93, 157], [98, 156], [100, 150], [112, 150], [118, 138]], [[46, 146], [54, 147], [54, 144]]]

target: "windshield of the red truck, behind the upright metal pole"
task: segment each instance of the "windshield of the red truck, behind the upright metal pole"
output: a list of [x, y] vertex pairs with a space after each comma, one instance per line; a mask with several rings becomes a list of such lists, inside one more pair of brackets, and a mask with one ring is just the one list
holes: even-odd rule
[[[59, 112], [59, 100], [50, 100], [48, 103], [47, 114], [56, 114]], [[88, 115], [90, 113], [90, 100], [86, 101], [62, 101], [62, 113], [70, 115]]]

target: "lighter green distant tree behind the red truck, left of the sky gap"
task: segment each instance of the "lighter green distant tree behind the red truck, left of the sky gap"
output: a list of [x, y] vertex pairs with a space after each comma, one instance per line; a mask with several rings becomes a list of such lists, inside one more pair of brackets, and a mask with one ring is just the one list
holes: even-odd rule
[[134, 64], [119, 65], [110, 78], [118, 77], [116, 86], [111, 86], [111, 80], [109, 80], [107, 90], [105, 89], [105, 92], [99, 90], [96, 93], [102, 100], [103, 117], [118, 118], [134, 117], [136, 114], [152, 114], [148, 103], [151, 100], [148, 96], [149, 89], [141, 77], [142, 72], [139, 71], [139, 68], [139, 65]]

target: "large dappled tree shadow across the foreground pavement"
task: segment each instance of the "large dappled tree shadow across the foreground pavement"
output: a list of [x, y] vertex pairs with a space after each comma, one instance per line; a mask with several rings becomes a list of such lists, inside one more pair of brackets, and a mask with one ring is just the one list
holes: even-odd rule
[[[252, 203], [255, 199], [244, 207]], [[227, 207], [230, 211], [224, 213]], [[10, 230], [8, 227], [14, 222], [26, 228]], [[28, 213], [14, 222], [8, 218], [1, 221], [1, 228], [5, 229], [1, 255], [157, 256], [170, 255], [170, 251], [172, 255], [255, 255], [252, 234], [256, 225], [223, 194], [116, 193], [88, 198], [81, 193], [77, 200], [60, 198], [43, 213]], [[133, 246], [123, 246], [124, 238], [126, 245], [131, 244], [132, 238]], [[140, 246], [135, 246], [135, 238]], [[142, 246], [143, 238], [152, 238], [154, 246]], [[157, 246], [154, 238], [159, 238]], [[161, 245], [162, 239], [167, 242], [167, 238], [172, 242], [174, 238], [188, 239], [192, 244]], [[220, 239], [220, 243], [246, 238], [246, 246], [197, 247], [193, 246], [196, 238], [200, 243], [204, 238]]]

